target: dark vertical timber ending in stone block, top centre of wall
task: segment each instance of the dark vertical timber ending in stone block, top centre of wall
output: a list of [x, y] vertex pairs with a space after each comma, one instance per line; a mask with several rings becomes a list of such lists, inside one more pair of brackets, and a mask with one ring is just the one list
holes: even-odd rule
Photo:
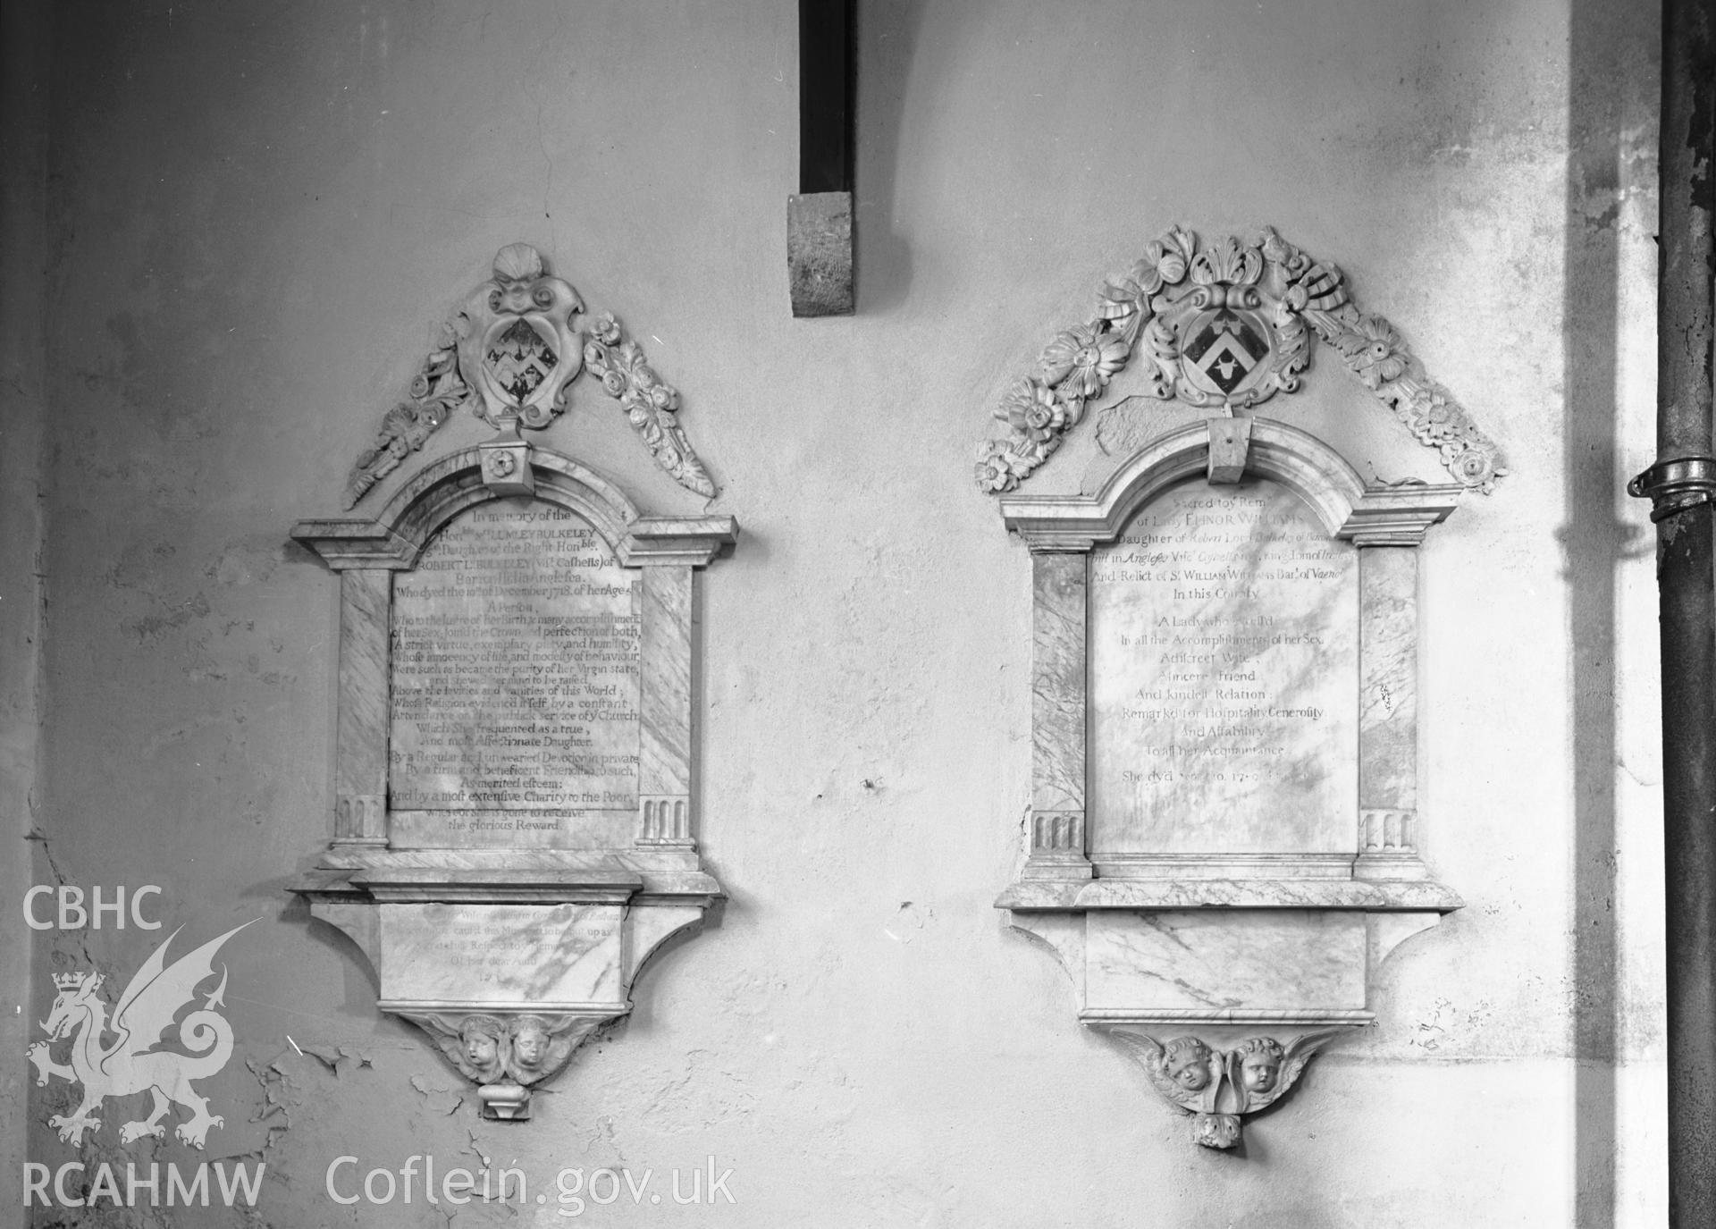
[[798, 0], [798, 196], [786, 199], [795, 316], [851, 316], [856, 0]]

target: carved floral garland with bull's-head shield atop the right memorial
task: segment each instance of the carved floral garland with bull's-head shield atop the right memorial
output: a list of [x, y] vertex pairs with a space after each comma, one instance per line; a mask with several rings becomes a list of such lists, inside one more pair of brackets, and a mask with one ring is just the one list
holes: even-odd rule
[[1127, 362], [1163, 402], [1232, 414], [1294, 393], [1313, 335], [1467, 487], [1507, 474], [1500, 450], [1453, 395], [1429, 379], [1395, 328], [1347, 297], [1340, 269], [1265, 228], [1251, 244], [1201, 244], [1175, 227], [1126, 276], [1103, 283], [1097, 314], [1055, 335], [1036, 372], [1007, 388], [1004, 439], [978, 446], [976, 481], [1012, 491], [1060, 446]]

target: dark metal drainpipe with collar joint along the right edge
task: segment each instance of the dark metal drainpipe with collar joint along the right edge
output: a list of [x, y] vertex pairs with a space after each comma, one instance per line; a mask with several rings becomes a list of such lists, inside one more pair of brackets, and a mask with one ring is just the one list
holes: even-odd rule
[[1656, 463], [1668, 923], [1668, 1220], [1716, 1226], [1716, 0], [1663, 2]]

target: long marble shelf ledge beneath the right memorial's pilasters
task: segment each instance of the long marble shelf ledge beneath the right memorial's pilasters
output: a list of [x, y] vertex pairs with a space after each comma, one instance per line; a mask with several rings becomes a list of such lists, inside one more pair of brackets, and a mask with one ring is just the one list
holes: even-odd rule
[[1452, 913], [1464, 901], [1431, 881], [1368, 879], [1024, 879], [995, 901], [1019, 911], [1371, 910]]

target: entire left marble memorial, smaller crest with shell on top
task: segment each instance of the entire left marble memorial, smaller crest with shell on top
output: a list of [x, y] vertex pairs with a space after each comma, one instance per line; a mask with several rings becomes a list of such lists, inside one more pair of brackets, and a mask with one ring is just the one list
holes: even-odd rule
[[455, 410], [494, 434], [372, 517], [292, 534], [340, 577], [333, 839], [292, 891], [501, 1119], [530, 1116], [530, 1088], [631, 1011], [650, 954], [722, 894], [695, 836], [692, 611], [738, 525], [645, 515], [522, 434], [587, 369], [661, 469], [714, 494], [678, 395], [618, 321], [582, 314], [534, 249], [503, 249], [359, 457], [348, 505]]

